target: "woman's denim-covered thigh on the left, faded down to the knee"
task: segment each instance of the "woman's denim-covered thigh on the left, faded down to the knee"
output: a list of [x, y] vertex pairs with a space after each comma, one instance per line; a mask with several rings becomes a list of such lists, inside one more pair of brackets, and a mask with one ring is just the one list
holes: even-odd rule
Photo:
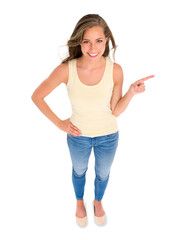
[[88, 168], [88, 161], [92, 150], [89, 137], [73, 136], [67, 133], [67, 144], [75, 172], [83, 174]]

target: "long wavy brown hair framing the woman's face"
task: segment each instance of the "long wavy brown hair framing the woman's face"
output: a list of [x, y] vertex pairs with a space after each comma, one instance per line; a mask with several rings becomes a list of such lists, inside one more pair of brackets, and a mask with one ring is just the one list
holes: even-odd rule
[[111, 41], [112, 42], [111, 50], [112, 49], [114, 50], [113, 59], [115, 61], [115, 51], [116, 51], [117, 46], [115, 44], [113, 34], [112, 34], [110, 28], [108, 27], [106, 21], [98, 14], [88, 14], [88, 15], [83, 16], [77, 22], [70, 39], [67, 41], [66, 46], [68, 47], [68, 57], [63, 59], [61, 63], [65, 63], [65, 62], [68, 62], [69, 60], [72, 60], [74, 58], [79, 58], [82, 56], [80, 44], [83, 40], [84, 33], [88, 28], [91, 28], [94, 26], [101, 26], [103, 28], [105, 37], [108, 38], [103, 56], [107, 57], [109, 55], [109, 53], [110, 53], [109, 42]]

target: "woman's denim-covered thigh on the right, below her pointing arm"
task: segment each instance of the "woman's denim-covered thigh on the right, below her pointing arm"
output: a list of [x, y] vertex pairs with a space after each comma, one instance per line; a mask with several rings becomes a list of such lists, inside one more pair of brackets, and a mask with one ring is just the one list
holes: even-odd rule
[[95, 171], [100, 178], [107, 178], [118, 147], [119, 131], [97, 138], [94, 146]]

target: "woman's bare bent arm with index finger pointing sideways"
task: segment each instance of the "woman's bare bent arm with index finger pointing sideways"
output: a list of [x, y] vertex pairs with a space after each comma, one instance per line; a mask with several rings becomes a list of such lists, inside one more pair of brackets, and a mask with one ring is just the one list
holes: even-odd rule
[[142, 78], [130, 85], [129, 90], [122, 97], [123, 71], [119, 64], [114, 63], [113, 80], [114, 88], [111, 98], [112, 114], [118, 117], [125, 111], [134, 95], [145, 91], [144, 81], [154, 77], [154, 75]]

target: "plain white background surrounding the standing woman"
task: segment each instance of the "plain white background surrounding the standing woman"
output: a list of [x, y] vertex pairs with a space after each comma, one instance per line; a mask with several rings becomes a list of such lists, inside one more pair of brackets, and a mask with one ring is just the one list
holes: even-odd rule
[[[88, 13], [108, 23], [130, 84], [154, 74], [118, 117], [120, 142], [103, 205], [93, 220], [94, 155], [85, 188], [88, 226], [75, 222], [76, 201], [66, 133], [34, 105], [31, 95], [60, 64], [58, 47]], [[2, 1], [0, 238], [186, 239], [184, 1]], [[65, 84], [45, 99], [71, 116]]]

